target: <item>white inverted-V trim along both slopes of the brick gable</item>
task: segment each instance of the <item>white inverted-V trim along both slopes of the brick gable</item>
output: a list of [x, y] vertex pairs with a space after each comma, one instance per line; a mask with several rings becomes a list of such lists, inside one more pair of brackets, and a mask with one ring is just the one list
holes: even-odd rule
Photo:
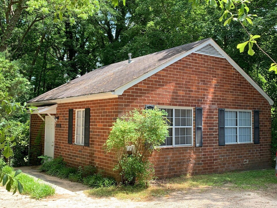
[[[186, 57], [187, 55], [190, 55], [191, 53], [196, 52], [197, 50], [201, 49], [202, 47], [211, 44], [256, 90], [258, 90], [259, 93], [261, 93], [261, 95], [263, 95], [265, 97], [265, 99], [267, 99], [267, 101], [269, 102], [270, 105], [273, 105], [273, 100], [265, 93], [265, 91], [263, 91], [262, 88], [259, 87], [259, 85], [257, 85], [257, 83], [251, 78], [249, 77], [245, 71], [239, 67], [239, 65], [236, 64], [236, 62], [231, 59], [231, 57], [229, 55], [227, 55], [227, 53], [225, 53], [225, 51], [223, 51], [223, 49], [221, 49], [218, 44], [216, 44], [216, 42], [210, 38], [209, 40], [199, 44], [198, 46], [194, 47], [193, 49], [190, 49], [189, 51], [186, 51], [176, 57], [174, 57], [173, 59], [165, 62], [164, 64], [154, 68], [153, 70], [145, 73], [144, 75], [130, 81], [129, 83], [120, 86], [119, 88], [115, 89], [115, 94], [116, 95], [122, 95], [123, 92], [125, 90], [127, 90], [128, 88], [134, 86], [135, 84], [143, 81], [144, 79], [147, 79], [148, 77], [156, 74], [157, 72], [159, 72], [160, 70], [166, 68], [167, 66], [177, 62], [178, 60]], [[207, 54], [205, 54], [207, 55]]]

